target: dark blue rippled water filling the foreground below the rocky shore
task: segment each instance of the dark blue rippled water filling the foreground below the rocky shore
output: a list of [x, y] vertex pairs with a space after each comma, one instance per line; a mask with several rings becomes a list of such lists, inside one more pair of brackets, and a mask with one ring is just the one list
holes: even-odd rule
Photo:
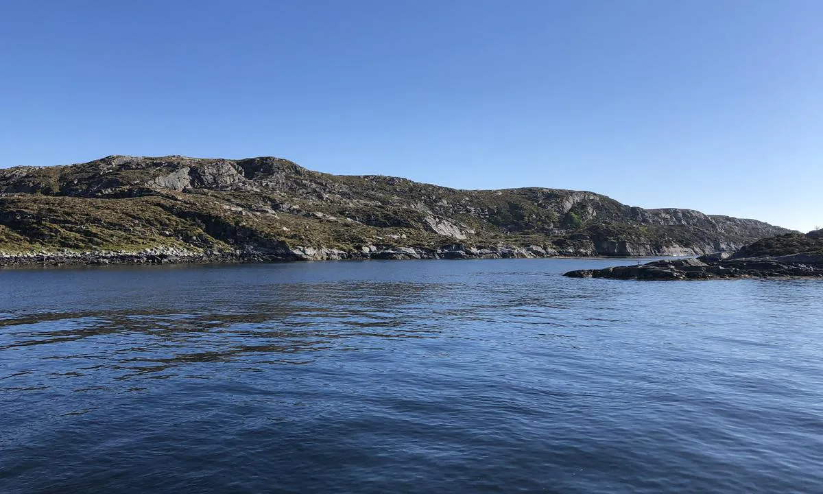
[[612, 263], [0, 271], [0, 492], [823, 492], [823, 282]]

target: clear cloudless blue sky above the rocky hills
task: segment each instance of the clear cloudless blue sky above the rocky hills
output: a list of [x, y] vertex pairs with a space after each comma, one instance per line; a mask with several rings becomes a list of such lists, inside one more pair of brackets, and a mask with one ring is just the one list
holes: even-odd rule
[[823, 226], [820, 0], [0, 0], [0, 167], [281, 156]]

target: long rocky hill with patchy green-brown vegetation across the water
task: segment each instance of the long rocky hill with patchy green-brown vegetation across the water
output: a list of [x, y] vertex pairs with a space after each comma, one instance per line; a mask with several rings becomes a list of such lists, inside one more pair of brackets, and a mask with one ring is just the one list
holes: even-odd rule
[[0, 263], [707, 254], [788, 232], [591, 192], [449, 189], [272, 157], [0, 170]]

